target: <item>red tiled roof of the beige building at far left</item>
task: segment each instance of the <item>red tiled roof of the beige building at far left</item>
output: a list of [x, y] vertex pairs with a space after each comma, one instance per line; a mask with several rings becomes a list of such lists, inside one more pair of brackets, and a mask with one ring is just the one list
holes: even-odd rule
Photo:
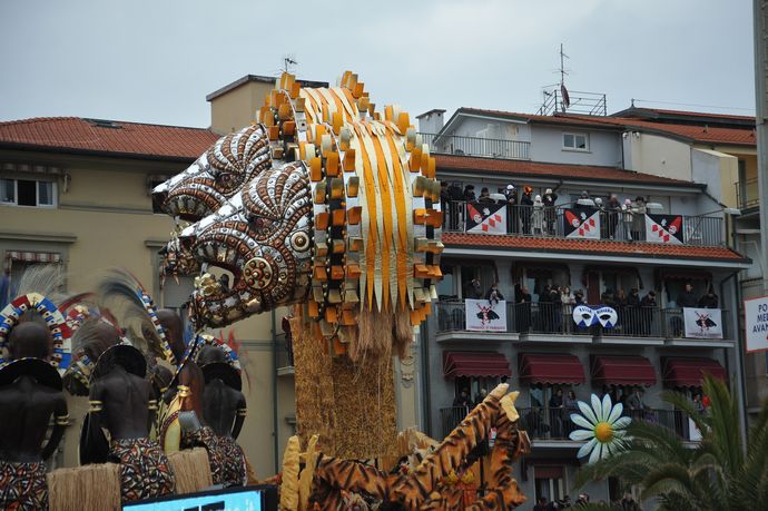
[[0, 147], [139, 159], [194, 160], [218, 138], [209, 129], [80, 117], [0, 122]]

